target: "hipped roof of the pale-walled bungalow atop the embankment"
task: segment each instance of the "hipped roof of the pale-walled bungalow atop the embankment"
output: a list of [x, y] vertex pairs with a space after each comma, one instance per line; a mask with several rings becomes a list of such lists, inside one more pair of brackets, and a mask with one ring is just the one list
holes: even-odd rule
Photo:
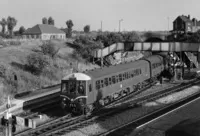
[[65, 32], [56, 28], [55, 26], [47, 24], [37, 24], [32, 28], [27, 29], [23, 34], [42, 34], [42, 33], [65, 34]]

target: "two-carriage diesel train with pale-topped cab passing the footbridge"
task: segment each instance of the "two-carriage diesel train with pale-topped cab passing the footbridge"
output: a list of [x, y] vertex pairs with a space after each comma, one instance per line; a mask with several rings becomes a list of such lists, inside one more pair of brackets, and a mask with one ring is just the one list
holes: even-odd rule
[[88, 113], [152, 83], [166, 70], [164, 55], [72, 73], [61, 81], [61, 105], [73, 113]]

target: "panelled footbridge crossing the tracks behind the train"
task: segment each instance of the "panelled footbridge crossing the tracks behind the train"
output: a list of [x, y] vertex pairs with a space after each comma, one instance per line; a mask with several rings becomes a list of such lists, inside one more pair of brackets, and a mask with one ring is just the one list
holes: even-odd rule
[[[197, 60], [200, 63], [200, 44], [199, 43], [182, 43], [182, 42], [125, 42], [114, 43], [104, 49], [93, 52], [94, 58], [102, 59], [117, 51], [151, 51], [151, 52], [177, 52], [177, 55], [183, 52], [186, 65], [190, 65], [192, 57], [188, 56], [188, 52], [197, 53]], [[197, 66], [196, 66], [197, 67]]]

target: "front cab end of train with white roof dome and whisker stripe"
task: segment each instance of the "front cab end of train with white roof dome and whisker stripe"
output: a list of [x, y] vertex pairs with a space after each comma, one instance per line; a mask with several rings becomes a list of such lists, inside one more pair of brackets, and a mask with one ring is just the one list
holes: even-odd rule
[[73, 73], [61, 81], [61, 106], [75, 114], [84, 112], [87, 105], [88, 81], [91, 78], [83, 73]]

